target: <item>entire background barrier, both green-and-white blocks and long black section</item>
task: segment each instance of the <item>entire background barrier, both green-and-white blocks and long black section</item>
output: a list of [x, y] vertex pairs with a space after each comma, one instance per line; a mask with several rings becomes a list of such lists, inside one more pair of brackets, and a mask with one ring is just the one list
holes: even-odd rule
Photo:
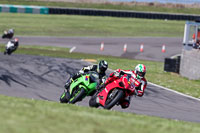
[[44, 7], [44, 6], [22, 6], [22, 5], [1, 5], [1, 4], [0, 4], [0, 12], [111, 16], [111, 17], [165, 19], [165, 20], [196, 20], [200, 18], [200, 15], [189, 15], [189, 14], [169, 14], [169, 13], [102, 10], [102, 9], [86, 9], [86, 8], [56, 8], [56, 7]]

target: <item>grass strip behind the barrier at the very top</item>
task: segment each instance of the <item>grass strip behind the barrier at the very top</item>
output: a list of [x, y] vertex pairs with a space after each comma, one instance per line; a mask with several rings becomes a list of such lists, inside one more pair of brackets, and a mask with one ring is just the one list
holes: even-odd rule
[[[165, 13], [185, 13], [185, 14], [200, 14], [199, 8], [169, 8], [161, 6], [148, 5], [126, 5], [126, 4], [95, 4], [95, 3], [71, 3], [71, 2], [42, 2], [36, 0], [1, 0], [1, 4], [15, 4], [15, 5], [38, 5], [38, 6], [52, 6], [52, 7], [75, 7], [75, 8], [96, 8], [96, 9], [113, 9], [113, 10], [133, 10], [146, 12], [165, 12]], [[191, 6], [192, 7], [192, 6]]]

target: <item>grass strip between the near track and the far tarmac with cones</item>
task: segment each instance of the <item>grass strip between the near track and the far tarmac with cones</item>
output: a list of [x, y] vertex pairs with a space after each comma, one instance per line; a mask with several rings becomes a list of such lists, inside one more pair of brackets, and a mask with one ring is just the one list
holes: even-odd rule
[[[3, 47], [1, 46], [0, 48], [3, 52]], [[98, 61], [104, 59], [108, 61], [109, 68], [113, 70], [118, 68], [127, 70], [134, 69], [136, 64], [143, 63], [147, 67], [146, 77], [149, 82], [200, 98], [200, 80], [188, 80], [178, 74], [164, 72], [164, 63], [162, 62], [132, 60], [94, 54], [69, 53], [68, 51], [69, 49], [67, 48], [20, 46], [16, 53], [73, 59], [95, 59]]]

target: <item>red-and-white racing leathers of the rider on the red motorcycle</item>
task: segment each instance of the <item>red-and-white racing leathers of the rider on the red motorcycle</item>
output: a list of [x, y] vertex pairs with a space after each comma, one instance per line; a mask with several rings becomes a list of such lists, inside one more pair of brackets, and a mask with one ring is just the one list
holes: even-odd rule
[[[136, 78], [137, 76], [136, 76], [135, 72], [131, 71], [131, 70], [117, 69], [116, 71], [114, 71], [113, 73], [110, 74], [110, 76], [107, 78], [106, 82], [101, 86], [101, 88], [105, 87], [107, 84], [113, 82], [114, 80], [120, 78], [124, 74], [131, 75], [135, 79], [135, 81], [136, 80], [139, 81], [140, 85], [135, 88], [135, 93], [133, 95], [142, 97], [144, 95], [144, 91], [147, 86], [147, 80], [144, 77], [141, 79]], [[124, 99], [120, 100], [119, 104], [121, 105], [121, 107], [123, 109], [129, 107], [131, 98], [132, 98], [132, 96], [127, 96]]]

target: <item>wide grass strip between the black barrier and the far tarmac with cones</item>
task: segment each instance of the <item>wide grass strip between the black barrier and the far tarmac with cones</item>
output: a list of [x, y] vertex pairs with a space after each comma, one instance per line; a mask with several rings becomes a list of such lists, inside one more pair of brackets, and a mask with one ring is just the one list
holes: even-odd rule
[[0, 31], [25, 36], [182, 37], [185, 21], [0, 13]]

